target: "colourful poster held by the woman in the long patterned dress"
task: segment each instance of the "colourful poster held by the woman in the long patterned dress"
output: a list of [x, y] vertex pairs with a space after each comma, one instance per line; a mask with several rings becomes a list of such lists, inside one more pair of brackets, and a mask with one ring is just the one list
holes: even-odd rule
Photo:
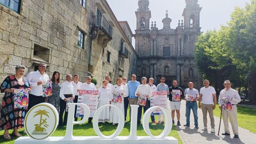
[[28, 106], [28, 90], [14, 90], [14, 108], [24, 108]]

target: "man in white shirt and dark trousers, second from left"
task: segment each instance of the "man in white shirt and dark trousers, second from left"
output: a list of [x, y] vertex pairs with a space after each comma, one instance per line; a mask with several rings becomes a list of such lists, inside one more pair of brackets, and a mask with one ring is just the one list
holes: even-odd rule
[[28, 110], [33, 106], [45, 102], [43, 97], [43, 82], [49, 81], [49, 75], [45, 73], [46, 64], [40, 63], [37, 71], [32, 71], [28, 74], [27, 79], [31, 86], [31, 92], [29, 93]]

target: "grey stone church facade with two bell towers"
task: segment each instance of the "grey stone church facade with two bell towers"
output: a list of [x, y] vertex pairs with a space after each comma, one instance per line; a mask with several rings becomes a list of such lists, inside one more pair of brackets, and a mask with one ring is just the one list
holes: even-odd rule
[[149, 0], [139, 0], [138, 5], [134, 35], [138, 80], [142, 76], [154, 77], [159, 83], [160, 77], [165, 76], [169, 86], [173, 79], [177, 79], [181, 86], [187, 86], [190, 81], [197, 88], [201, 86], [201, 75], [194, 59], [194, 44], [201, 33], [199, 14], [202, 7], [199, 7], [197, 0], [186, 0], [182, 14], [184, 21], [177, 21], [175, 29], [170, 27], [172, 19], [167, 11], [162, 20], [163, 28], [158, 29], [156, 22], [150, 23]]

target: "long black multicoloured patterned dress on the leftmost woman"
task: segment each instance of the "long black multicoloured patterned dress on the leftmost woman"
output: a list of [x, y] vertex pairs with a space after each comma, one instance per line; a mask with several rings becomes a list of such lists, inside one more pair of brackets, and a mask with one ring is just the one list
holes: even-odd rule
[[[1, 84], [0, 90], [3, 93], [6, 89], [27, 89], [29, 83], [25, 77], [22, 82], [18, 82], [14, 75], [8, 76]], [[5, 92], [2, 101], [2, 110], [0, 118], [0, 129], [21, 129], [24, 126], [27, 107], [14, 108], [13, 93]]]

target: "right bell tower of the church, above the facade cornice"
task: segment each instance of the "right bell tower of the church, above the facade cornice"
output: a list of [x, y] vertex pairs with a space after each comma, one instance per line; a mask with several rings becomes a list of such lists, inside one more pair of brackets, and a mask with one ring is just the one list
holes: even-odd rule
[[200, 12], [202, 7], [199, 7], [197, 0], [186, 0], [186, 7], [182, 16], [184, 17], [184, 28], [193, 28], [200, 31]]

